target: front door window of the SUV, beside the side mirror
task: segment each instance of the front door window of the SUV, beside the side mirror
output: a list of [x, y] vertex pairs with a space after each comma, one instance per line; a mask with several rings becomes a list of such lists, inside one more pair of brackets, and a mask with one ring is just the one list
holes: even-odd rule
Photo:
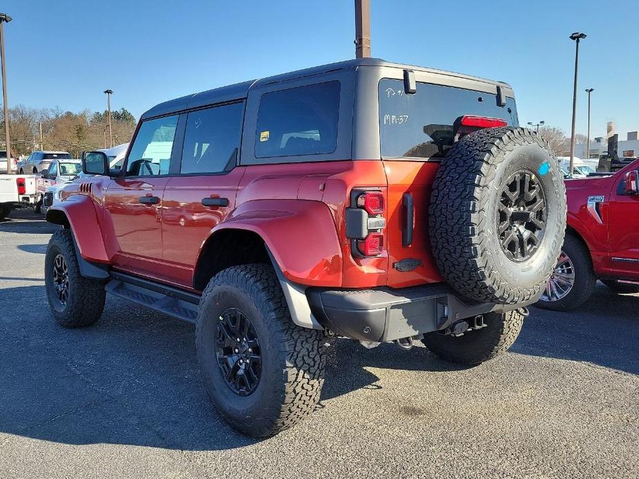
[[128, 154], [127, 176], [168, 175], [178, 115], [142, 122]]

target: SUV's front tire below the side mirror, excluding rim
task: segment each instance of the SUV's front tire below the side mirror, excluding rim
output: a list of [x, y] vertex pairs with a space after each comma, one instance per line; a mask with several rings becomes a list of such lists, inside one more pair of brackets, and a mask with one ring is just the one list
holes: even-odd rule
[[[62, 304], [55, 293], [53, 267], [57, 255], [62, 255], [68, 272], [68, 300]], [[73, 236], [61, 228], [51, 236], [44, 260], [46, 296], [55, 321], [65, 328], [78, 328], [94, 324], [102, 315], [106, 291], [105, 282], [92, 280], [80, 274]]]

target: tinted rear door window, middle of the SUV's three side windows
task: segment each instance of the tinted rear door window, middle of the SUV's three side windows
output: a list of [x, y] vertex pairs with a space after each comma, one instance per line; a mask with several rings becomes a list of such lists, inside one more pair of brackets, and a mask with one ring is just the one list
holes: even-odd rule
[[221, 173], [236, 165], [243, 103], [189, 113], [180, 173]]

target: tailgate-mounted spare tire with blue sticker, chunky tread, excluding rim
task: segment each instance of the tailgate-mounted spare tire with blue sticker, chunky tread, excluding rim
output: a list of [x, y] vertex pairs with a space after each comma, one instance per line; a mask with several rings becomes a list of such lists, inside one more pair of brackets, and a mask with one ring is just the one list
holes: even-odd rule
[[[497, 232], [498, 206], [512, 175], [533, 175], [546, 201], [545, 233], [536, 251], [515, 262]], [[479, 302], [518, 304], [546, 285], [566, 226], [566, 190], [557, 159], [526, 128], [486, 128], [450, 148], [433, 184], [432, 253], [446, 281]]]

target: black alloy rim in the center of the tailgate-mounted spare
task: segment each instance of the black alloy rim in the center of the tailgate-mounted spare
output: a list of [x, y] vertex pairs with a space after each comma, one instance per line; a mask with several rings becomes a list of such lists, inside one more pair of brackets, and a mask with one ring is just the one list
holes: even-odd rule
[[528, 260], [546, 232], [546, 197], [537, 177], [517, 171], [506, 182], [497, 205], [497, 233], [502, 250], [514, 262]]

